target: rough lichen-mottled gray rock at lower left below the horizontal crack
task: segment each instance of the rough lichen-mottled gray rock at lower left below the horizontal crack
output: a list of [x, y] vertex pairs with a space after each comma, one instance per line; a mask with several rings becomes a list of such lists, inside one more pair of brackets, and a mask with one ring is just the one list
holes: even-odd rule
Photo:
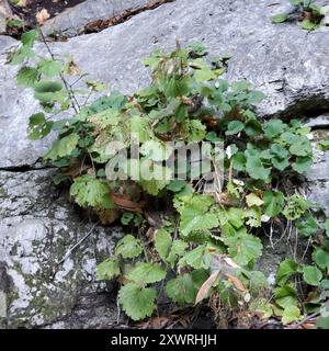
[[95, 227], [58, 265], [94, 225], [59, 195], [52, 173], [0, 172], [0, 326], [105, 327], [116, 320], [116, 308], [106, 286], [95, 282], [95, 264], [122, 233]]

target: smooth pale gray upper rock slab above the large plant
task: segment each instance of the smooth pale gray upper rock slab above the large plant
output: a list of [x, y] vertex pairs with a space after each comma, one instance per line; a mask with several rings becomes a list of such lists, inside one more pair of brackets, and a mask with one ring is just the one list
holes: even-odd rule
[[[54, 43], [52, 47], [56, 55], [70, 54], [90, 77], [131, 93], [150, 79], [140, 63], [143, 57], [156, 48], [173, 48], [175, 38], [182, 44], [202, 41], [211, 55], [234, 55], [228, 79], [247, 79], [265, 93], [266, 100], [259, 106], [261, 116], [316, 114], [329, 107], [329, 29], [309, 33], [296, 23], [271, 23], [270, 16], [282, 11], [283, 3], [179, 0], [101, 33]], [[0, 45], [0, 129], [8, 131], [0, 141], [0, 167], [31, 165], [49, 140], [26, 140], [27, 118], [38, 106], [31, 91], [16, 88], [16, 68], [4, 65], [8, 47]], [[14, 140], [10, 135], [15, 135]]]

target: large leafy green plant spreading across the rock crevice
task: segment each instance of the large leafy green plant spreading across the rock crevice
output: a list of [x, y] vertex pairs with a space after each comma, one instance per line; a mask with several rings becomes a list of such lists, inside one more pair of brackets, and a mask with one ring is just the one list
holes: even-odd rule
[[[29, 136], [38, 139], [56, 132], [58, 138], [44, 155], [45, 162], [59, 169], [56, 183], [70, 184], [72, 200], [104, 225], [121, 217], [129, 229], [97, 271], [99, 280], [120, 280], [118, 302], [125, 313], [134, 320], [151, 316], [159, 294], [166, 294], [180, 306], [217, 298], [231, 310], [243, 305], [266, 318], [276, 314], [284, 322], [298, 319], [297, 294], [288, 285], [298, 264], [282, 263], [275, 304], [266, 299], [264, 274], [253, 267], [262, 254], [264, 228], [290, 222], [305, 237], [321, 229], [313, 214], [316, 206], [284, 186], [311, 166], [310, 129], [297, 120], [259, 120], [254, 105], [263, 94], [246, 81], [222, 79], [225, 65], [208, 63], [205, 48], [195, 44], [144, 59], [152, 69], [149, 87], [89, 103], [104, 86], [87, 81], [87, 91], [73, 90], [84, 76], [69, 83], [77, 66], [56, 59], [49, 47], [48, 58], [36, 58], [37, 35], [23, 34], [10, 57], [11, 64], [24, 63], [18, 82], [34, 89], [43, 107], [31, 116]], [[87, 94], [83, 103], [78, 92]], [[72, 116], [54, 118], [64, 110]], [[220, 190], [204, 193], [206, 180], [189, 158], [188, 177], [180, 179], [179, 160], [166, 141], [222, 143], [227, 177], [222, 179], [216, 168], [214, 172]], [[132, 156], [134, 143], [138, 158]], [[121, 158], [122, 150], [127, 150], [126, 158]], [[173, 169], [164, 163], [171, 156]], [[213, 166], [215, 156], [207, 154]], [[115, 172], [107, 167], [112, 161]], [[146, 168], [164, 177], [140, 177]], [[150, 208], [163, 202], [169, 211], [160, 218], [150, 216]], [[318, 284], [318, 268], [304, 268], [304, 279], [310, 286]]]

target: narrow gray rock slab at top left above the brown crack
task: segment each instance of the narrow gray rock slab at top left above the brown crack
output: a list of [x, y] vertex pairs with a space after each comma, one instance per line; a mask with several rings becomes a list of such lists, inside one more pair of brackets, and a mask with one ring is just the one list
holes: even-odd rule
[[76, 36], [84, 32], [88, 23], [110, 20], [115, 16], [134, 13], [160, 0], [87, 0], [47, 21], [43, 26], [46, 35]]

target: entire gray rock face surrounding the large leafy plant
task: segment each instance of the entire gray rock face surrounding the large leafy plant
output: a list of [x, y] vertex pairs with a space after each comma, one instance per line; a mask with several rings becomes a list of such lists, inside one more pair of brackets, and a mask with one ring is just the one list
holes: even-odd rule
[[[212, 55], [234, 55], [228, 79], [247, 79], [266, 94], [261, 116], [311, 115], [316, 145], [328, 138], [322, 112], [329, 110], [329, 29], [308, 33], [296, 23], [272, 24], [270, 16], [285, 8], [285, 0], [177, 0], [101, 33], [53, 43], [52, 49], [69, 53], [91, 77], [129, 93], [149, 80], [143, 57], [173, 48], [177, 38], [182, 44], [202, 41]], [[30, 90], [16, 87], [18, 69], [5, 65], [7, 52], [15, 45], [0, 36], [0, 327], [104, 327], [116, 319], [116, 310], [103, 294], [105, 286], [94, 282], [94, 267], [122, 234], [97, 227], [56, 265], [90, 225], [81, 222], [67, 195], [56, 193], [52, 171], [36, 167], [52, 136], [39, 143], [26, 138], [27, 118], [39, 107]], [[327, 211], [328, 167], [328, 151], [316, 150], [309, 196]]]

